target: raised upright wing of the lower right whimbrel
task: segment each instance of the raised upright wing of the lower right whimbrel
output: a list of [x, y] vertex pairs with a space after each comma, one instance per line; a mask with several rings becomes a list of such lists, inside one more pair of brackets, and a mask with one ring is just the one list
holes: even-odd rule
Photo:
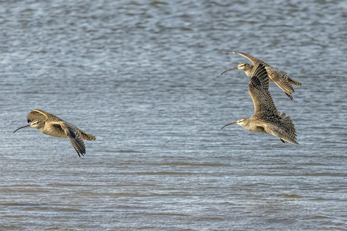
[[269, 78], [263, 64], [259, 64], [254, 70], [249, 81], [248, 92], [254, 104], [254, 114], [273, 114], [278, 111], [269, 92]]

